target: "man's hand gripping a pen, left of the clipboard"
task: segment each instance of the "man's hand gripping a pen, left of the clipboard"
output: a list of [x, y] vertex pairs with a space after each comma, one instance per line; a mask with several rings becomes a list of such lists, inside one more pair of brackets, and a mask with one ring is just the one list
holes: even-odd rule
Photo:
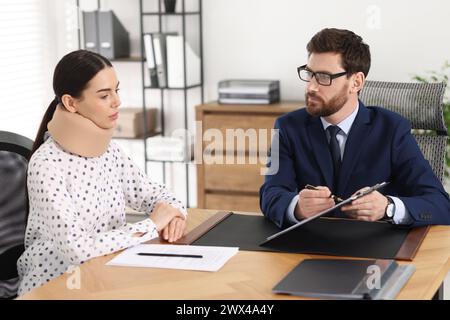
[[335, 205], [335, 200], [328, 187], [318, 186], [312, 188], [312, 186], [307, 186], [298, 195], [299, 198], [294, 213], [299, 220], [309, 218]]

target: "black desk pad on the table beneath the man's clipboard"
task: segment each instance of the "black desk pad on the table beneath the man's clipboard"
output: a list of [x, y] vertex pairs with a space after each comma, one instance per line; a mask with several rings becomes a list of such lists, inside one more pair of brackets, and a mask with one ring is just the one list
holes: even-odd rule
[[280, 230], [263, 216], [230, 214], [191, 244], [239, 247], [248, 251], [402, 259], [397, 254], [410, 230], [388, 223], [320, 218], [260, 246]]

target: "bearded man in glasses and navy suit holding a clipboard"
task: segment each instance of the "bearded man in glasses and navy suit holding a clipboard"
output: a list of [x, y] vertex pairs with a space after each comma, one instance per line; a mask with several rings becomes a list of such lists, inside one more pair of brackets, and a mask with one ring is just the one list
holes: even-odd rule
[[[348, 30], [324, 29], [308, 43], [306, 108], [279, 117], [271, 161], [278, 171], [260, 189], [262, 212], [280, 228], [382, 181], [390, 184], [332, 216], [420, 226], [450, 224], [450, 200], [411, 135], [411, 124], [358, 99], [370, 50]], [[316, 190], [306, 189], [306, 185]]]

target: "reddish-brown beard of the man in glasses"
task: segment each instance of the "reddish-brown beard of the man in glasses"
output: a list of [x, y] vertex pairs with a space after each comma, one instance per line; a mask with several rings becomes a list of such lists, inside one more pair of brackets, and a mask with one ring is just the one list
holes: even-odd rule
[[[348, 86], [342, 88], [341, 92], [337, 93], [328, 102], [325, 102], [321, 97], [317, 96], [314, 92], [305, 93], [306, 111], [316, 117], [328, 117], [338, 112], [347, 102]], [[313, 98], [316, 101], [311, 102], [309, 98]]]

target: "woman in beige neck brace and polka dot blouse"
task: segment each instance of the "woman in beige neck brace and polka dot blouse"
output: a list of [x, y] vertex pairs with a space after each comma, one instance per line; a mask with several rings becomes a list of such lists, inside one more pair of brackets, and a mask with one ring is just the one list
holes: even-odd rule
[[[111, 141], [120, 106], [111, 63], [85, 50], [69, 53], [55, 68], [53, 89], [28, 165], [19, 295], [159, 234], [176, 241], [186, 228], [182, 203]], [[128, 224], [126, 206], [149, 217]]]

